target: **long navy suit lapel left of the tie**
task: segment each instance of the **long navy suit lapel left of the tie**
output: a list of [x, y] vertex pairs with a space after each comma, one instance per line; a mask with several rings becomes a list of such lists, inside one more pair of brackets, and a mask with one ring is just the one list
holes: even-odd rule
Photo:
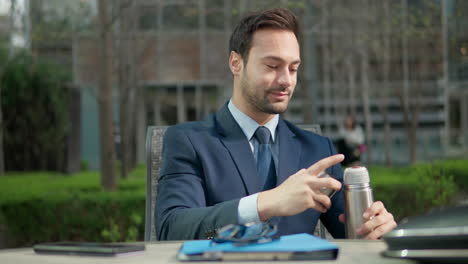
[[227, 148], [236, 164], [247, 193], [250, 195], [261, 191], [257, 167], [249, 141], [231, 112], [229, 112], [227, 104], [216, 113], [216, 121], [218, 125], [217, 130], [221, 135], [221, 142]]

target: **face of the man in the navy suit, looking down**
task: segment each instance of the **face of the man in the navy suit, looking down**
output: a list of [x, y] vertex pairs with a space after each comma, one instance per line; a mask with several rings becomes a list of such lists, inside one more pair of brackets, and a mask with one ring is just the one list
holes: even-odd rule
[[293, 32], [274, 29], [255, 32], [248, 61], [243, 61], [239, 74], [246, 107], [267, 114], [286, 111], [296, 87], [299, 64], [299, 44]]

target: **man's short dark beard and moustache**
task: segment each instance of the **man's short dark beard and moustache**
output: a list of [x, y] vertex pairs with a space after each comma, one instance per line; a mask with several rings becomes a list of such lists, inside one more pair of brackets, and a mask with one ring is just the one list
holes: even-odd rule
[[[288, 109], [289, 99], [280, 105], [275, 105], [268, 100], [268, 94], [271, 92], [284, 92], [286, 88], [275, 87], [268, 90], [262, 90], [262, 93], [256, 94], [255, 88], [251, 87], [247, 76], [244, 75], [241, 81], [241, 88], [244, 94], [245, 100], [260, 112], [267, 114], [282, 114]], [[289, 94], [291, 97], [291, 92]]]

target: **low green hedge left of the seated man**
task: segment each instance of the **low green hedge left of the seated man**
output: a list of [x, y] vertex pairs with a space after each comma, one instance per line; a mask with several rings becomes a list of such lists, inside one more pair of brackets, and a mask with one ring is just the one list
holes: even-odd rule
[[119, 190], [103, 191], [97, 172], [72, 176], [16, 173], [0, 177], [0, 225], [8, 247], [47, 241], [136, 241], [144, 238], [144, 168]]

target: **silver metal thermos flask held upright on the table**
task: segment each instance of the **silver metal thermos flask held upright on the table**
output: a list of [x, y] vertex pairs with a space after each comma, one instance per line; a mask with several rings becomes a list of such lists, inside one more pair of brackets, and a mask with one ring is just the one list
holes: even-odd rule
[[374, 202], [369, 172], [358, 166], [345, 169], [344, 185], [346, 237], [360, 239], [356, 229], [364, 223], [362, 215]]

